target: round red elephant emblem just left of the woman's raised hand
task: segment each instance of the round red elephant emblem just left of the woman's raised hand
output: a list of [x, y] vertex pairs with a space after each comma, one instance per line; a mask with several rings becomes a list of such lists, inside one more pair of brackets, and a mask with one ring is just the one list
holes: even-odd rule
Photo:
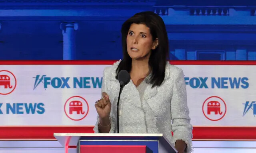
[[87, 116], [89, 104], [85, 98], [81, 96], [72, 96], [66, 100], [64, 111], [70, 120], [80, 121]]

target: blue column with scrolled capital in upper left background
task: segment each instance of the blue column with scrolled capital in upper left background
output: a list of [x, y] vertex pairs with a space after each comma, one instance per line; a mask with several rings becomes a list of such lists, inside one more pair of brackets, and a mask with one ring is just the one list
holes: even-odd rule
[[77, 23], [61, 23], [63, 35], [63, 60], [76, 59], [76, 30]]

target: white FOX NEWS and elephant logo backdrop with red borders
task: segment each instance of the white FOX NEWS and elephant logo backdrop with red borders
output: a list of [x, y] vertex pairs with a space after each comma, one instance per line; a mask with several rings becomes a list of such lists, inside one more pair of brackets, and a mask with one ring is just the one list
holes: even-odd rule
[[[52, 139], [54, 132], [93, 132], [102, 73], [112, 63], [9, 61], [0, 65], [0, 136]], [[171, 63], [184, 71], [194, 140], [255, 139], [255, 62]]]

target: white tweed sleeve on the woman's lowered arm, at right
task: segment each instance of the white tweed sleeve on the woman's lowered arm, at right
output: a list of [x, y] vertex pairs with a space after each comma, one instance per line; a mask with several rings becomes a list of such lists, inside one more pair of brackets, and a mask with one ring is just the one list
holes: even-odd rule
[[173, 82], [173, 95], [171, 99], [171, 117], [172, 117], [172, 143], [176, 140], [183, 140], [187, 144], [186, 153], [192, 151], [192, 125], [190, 124], [190, 117], [186, 85], [182, 69], [178, 69]]

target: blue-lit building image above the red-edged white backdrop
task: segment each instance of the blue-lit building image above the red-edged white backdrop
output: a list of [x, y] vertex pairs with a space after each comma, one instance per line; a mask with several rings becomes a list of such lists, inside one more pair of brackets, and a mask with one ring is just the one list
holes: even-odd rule
[[0, 0], [0, 59], [122, 59], [122, 23], [153, 11], [171, 60], [256, 60], [255, 10], [255, 0]]

